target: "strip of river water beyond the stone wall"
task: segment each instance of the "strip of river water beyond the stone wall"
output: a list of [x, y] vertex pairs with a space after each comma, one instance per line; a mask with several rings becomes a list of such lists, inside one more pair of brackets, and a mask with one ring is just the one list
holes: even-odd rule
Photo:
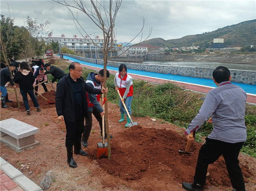
[[170, 61], [143, 61], [142, 64], [152, 64], [152, 65], [175, 65], [175, 66], [190, 66], [190, 67], [210, 67], [216, 68], [220, 65], [227, 67], [228, 69], [237, 70], [253, 70], [256, 71], [256, 64], [236, 64], [236, 63], [224, 63], [224, 62], [170, 62]]

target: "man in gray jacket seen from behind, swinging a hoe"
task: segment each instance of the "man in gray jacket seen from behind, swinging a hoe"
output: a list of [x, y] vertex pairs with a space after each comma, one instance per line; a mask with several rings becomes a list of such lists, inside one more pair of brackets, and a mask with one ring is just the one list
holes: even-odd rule
[[189, 135], [210, 116], [207, 122], [213, 124], [213, 130], [199, 151], [193, 184], [184, 182], [182, 186], [186, 190], [203, 191], [208, 165], [223, 155], [234, 191], [245, 191], [238, 155], [247, 138], [244, 119], [247, 95], [241, 87], [230, 83], [228, 68], [219, 66], [212, 75], [217, 87], [208, 92], [199, 113], [184, 133], [187, 140], [194, 140]]

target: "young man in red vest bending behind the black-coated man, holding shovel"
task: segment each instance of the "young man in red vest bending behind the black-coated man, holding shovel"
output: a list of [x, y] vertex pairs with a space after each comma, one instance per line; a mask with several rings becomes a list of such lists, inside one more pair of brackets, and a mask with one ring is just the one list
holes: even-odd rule
[[[109, 78], [109, 71], [107, 70], [106, 78]], [[86, 78], [86, 83], [95, 87], [97, 89], [101, 89], [103, 87], [103, 80], [104, 80], [104, 69], [101, 69], [99, 73], [89, 73], [88, 77]], [[84, 132], [82, 136], [82, 146], [88, 147], [88, 139], [91, 133], [91, 127], [93, 126], [93, 118], [92, 114], [95, 116], [96, 120], [99, 122], [100, 125], [100, 135], [102, 136], [102, 115], [105, 115], [105, 111], [100, 106], [100, 95], [90, 94], [86, 92], [87, 102], [88, 102], [88, 117], [85, 118], [85, 125], [84, 125]], [[106, 123], [104, 123], [106, 124]], [[106, 127], [105, 132], [106, 132]], [[107, 133], [105, 133], [105, 138], [107, 138]], [[109, 135], [109, 138], [113, 138], [112, 135]]]

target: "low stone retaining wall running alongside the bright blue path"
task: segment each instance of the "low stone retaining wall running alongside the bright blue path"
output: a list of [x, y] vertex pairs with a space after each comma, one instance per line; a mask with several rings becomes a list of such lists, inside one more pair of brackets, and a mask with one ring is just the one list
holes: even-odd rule
[[[69, 55], [63, 53], [65, 56], [70, 56], [78, 60], [96, 64], [95, 59], [83, 58], [81, 56]], [[103, 60], [97, 60], [97, 64], [103, 65]], [[141, 70], [147, 72], [156, 72], [171, 75], [189, 76], [195, 78], [212, 79], [212, 72], [214, 68], [208, 67], [185, 67], [185, 66], [172, 66], [172, 65], [148, 65], [148, 64], [135, 64], [127, 62], [108, 62], [109, 66], [119, 67], [120, 64], [125, 64], [127, 69]], [[256, 71], [249, 70], [234, 70], [230, 69], [232, 75], [231, 82], [241, 84], [256, 85]]]

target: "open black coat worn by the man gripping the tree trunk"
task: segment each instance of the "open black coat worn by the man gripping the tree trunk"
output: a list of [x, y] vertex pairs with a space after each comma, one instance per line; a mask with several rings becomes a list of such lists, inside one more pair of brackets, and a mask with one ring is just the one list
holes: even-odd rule
[[[83, 116], [88, 117], [88, 103], [86, 98], [86, 92], [91, 94], [102, 94], [101, 89], [96, 89], [91, 85], [85, 83], [82, 77], [82, 100], [83, 100]], [[74, 122], [75, 121], [75, 109], [74, 109], [74, 96], [72, 85], [70, 81], [70, 73], [66, 74], [61, 78], [57, 84], [56, 88], [56, 111], [58, 116], [63, 115], [65, 121]]]

